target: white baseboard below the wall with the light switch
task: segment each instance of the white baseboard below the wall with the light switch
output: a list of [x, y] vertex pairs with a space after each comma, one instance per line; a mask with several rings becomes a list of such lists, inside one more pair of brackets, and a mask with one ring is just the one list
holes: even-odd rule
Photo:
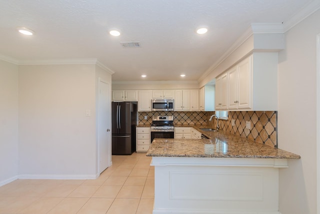
[[77, 180], [77, 179], [96, 179], [99, 174], [21, 174], [19, 179], [64, 179], [64, 180]]

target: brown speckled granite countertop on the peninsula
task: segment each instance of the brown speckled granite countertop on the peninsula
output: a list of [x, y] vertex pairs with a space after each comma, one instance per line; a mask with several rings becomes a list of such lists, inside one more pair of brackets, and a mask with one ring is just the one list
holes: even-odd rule
[[154, 157], [224, 157], [224, 158], [285, 158], [299, 159], [300, 156], [273, 148], [253, 140], [222, 131], [202, 131], [210, 139], [154, 139], [146, 156]]

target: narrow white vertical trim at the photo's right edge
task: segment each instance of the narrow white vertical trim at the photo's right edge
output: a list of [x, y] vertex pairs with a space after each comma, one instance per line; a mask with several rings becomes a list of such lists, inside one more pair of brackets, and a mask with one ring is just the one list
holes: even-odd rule
[[320, 34], [316, 37], [316, 207], [320, 214]]

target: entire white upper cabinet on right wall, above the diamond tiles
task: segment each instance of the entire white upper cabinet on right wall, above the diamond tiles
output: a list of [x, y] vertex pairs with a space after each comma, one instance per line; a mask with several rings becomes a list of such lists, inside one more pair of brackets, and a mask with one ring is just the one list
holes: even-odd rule
[[277, 53], [253, 53], [217, 77], [215, 109], [276, 111], [277, 62]]

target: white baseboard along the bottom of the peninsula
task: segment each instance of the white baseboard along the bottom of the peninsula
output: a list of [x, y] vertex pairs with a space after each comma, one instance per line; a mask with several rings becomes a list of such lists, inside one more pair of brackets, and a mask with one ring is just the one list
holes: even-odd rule
[[203, 210], [203, 209], [153, 209], [152, 214], [281, 214], [278, 211]]

